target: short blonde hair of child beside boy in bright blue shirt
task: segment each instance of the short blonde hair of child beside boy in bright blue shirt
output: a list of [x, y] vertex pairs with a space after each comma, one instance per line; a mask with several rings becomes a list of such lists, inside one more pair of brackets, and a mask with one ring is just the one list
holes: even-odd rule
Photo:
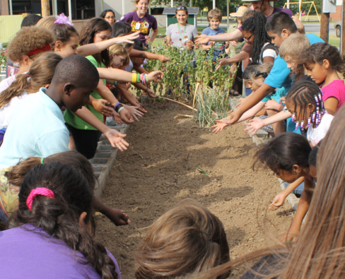
[[309, 47], [310, 42], [306, 36], [300, 33], [291, 34], [279, 47], [279, 55], [282, 57], [282, 59], [289, 55], [293, 61], [298, 61], [300, 55]]

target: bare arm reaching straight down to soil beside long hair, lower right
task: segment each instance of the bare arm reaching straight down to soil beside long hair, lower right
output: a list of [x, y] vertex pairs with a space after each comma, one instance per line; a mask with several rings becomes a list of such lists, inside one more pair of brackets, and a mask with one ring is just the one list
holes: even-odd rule
[[305, 179], [305, 189], [300, 196], [300, 202], [298, 203], [295, 217], [292, 220], [291, 226], [289, 227], [286, 234], [280, 239], [282, 242], [296, 241], [296, 236], [300, 233], [300, 226], [302, 225], [303, 218], [309, 209], [310, 201], [312, 200], [313, 190], [315, 184], [309, 179]]

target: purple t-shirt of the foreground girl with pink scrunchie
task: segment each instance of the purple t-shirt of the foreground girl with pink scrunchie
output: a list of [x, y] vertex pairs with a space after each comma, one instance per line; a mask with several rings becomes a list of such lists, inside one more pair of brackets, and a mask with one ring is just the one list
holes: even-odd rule
[[[25, 227], [34, 229], [31, 225]], [[21, 227], [7, 229], [0, 232], [0, 247], [1, 278], [101, 278], [91, 264], [78, 262], [78, 259], [84, 259], [80, 252], [75, 252], [63, 241], [52, 238], [43, 229], [37, 229], [36, 232]], [[121, 278], [116, 259], [107, 252], [115, 263], [118, 278]]]

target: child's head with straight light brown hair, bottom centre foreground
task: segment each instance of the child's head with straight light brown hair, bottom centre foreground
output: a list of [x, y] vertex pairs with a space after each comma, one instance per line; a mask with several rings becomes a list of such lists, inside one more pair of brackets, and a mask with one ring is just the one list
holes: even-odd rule
[[213, 213], [186, 199], [150, 226], [135, 259], [136, 279], [183, 278], [229, 261], [227, 235]]

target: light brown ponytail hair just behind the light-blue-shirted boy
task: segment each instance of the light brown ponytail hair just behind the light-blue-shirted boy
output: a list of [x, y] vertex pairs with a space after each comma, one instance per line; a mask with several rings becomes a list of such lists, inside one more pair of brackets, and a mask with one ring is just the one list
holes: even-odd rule
[[18, 76], [17, 80], [0, 94], [0, 109], [24, 91], [37, 92], [45, 84], [50, 84], [55, 68], [61, 60], [62, 57], [54, 52], [41, 54], [32, 63], [29, 73]]

